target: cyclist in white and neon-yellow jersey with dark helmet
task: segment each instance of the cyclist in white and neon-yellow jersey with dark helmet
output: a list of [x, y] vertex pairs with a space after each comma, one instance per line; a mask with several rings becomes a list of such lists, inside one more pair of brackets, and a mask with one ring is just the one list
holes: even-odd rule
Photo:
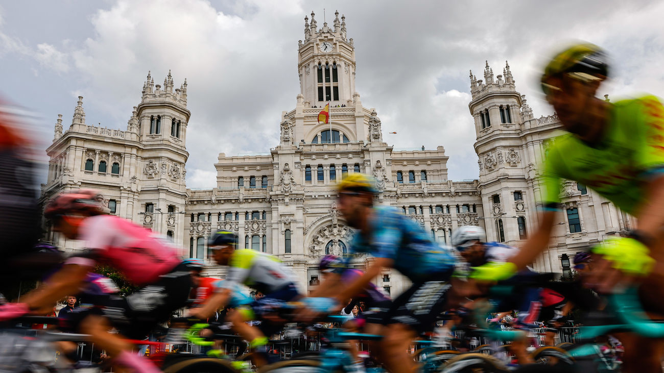
[[[244, 284], [260, 291], [265, 296], [249, 305], [243, 305], [228, 313], [226, 319], [233, 323], [235, 331], [250, 342], [254, 351], [262, 351], [268, 343], [266, 335], [276, 333], [286, 321], [270, 319], [275, 309], [282, 303], [293, 301], [300, 295], [295, 287], [290, 270], [274, 256], [256, 250], [235, 250], [236, 234], [226, 231], [215, 232], [208, 240], [212, 258], [219, 265], [228, 265], [228, 275], [220, 288], [201, 307], [191, 312], [193, 317], [207, 319], [217, 309], [228, 305], [237, 285]], [[248, 325], [247, 321], [276, 321], [261, 323], [259, 329]], [[276, 329], [275, 329], [276, 328]], [[256, 366], [266, 364], [262, 354], [252, 354]]]

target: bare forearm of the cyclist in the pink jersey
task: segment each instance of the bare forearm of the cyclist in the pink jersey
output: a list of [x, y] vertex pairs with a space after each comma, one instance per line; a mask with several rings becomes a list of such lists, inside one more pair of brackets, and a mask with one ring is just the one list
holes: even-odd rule
[[30, 309], [38, 310], [53, 307], [65, 295], [78, 294], [83, 281], [92, 270], [90, 265], [66, 264], [42, 287], [35, 289], [21, 299]]

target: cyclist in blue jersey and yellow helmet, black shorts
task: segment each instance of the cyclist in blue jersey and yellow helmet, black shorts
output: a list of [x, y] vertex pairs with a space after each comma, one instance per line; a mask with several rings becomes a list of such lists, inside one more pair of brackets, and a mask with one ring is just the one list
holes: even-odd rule
[[408, 356], [408, 346], [419, 333], [434, 329], [436, 318], [448, 300], [448, 280], [455, 259], [400, 210], [373, 206], [378, 192], [375, 185], [373, 177], [353, 173], [337, 187], [339, 211], [349, 226], [359, 231], [351, 250], [371, 254], [374, 260], [363, 275], [331, 296], [337, 304], [345, 304], [366, 289], [384, 268], [394, 268], [408, 277], [412, 286], [394, 299], [384, 314], [385, 337], [380, 342], [380, 353], [390, 372], [413, 372], [416, 365]]

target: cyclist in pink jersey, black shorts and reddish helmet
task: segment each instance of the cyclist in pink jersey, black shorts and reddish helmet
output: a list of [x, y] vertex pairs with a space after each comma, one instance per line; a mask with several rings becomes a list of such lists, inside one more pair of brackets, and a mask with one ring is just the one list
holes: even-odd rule
[[[109, 333], [111, 325], [127, 336], [144, 336], [171, 312], [185, 305], [191, 279], [178, 249], [167, 238], [118, 216], [105, 214], [92, 190], [77, 190], [56, 196], [44, 216], [53, 228], [70, 240], [83, 240], [86, 250], [65, 261], [47, 283], [22, 297], [23, 303], [0, 307], [0, 319], [20, 317], [50, 309], [66, 294], [80, 291], [88, 271], [96, 263], [111, 265], [141, 289], [126, 298], [112, 298], [97, 312], [82, 316], [79, 329], [90, 341], [108, 351], [116, 364], [135, 372], [159, 372], [151, 362], [131, 353], [132, 344], [122, 335]], [[109, 323], [109, 320], [111, 323]]]

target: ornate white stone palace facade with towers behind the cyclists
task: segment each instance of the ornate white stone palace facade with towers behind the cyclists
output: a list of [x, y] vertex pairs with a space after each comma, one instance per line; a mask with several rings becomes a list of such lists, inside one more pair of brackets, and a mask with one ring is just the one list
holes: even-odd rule
[[[163, 88], [148, 74], [127, 131], [86, 125], [82, 98], [64, 133], [58, 115], [46, 150], [44, 200], [63, 190], [96, 188], [112, 213], [171, 236], [184, 256], [194, 258], [207, 259], [207, 238], [216, 230], [237, 232], [240, 246], [277, 256], [309, 291], [319, 284], [319, 258], [348, 252], [352, 230], [335, 204], [335, 184], [345, 173], [376, 177], [376, 204], [400, 209], [442, 245], [468, 224], [485, 228], [487, 240], [513, 245], [537, 227], [537, 165], [560, 124], [555, 116], [534, 117], [509, 65], [495, 80], [488, 62], [484, 80], [471, 72], [479, 178], [451, 181], [444, 147], [400, 150], [383, 141], [376, 110], [363, 106], [355, 90], [355, 46], [345, 17], [335, 13], [332, 27], [319, 28], [312, 12], [298, 46], [300, 92], [295, 108], [275, 123], [280, 143], [269, 153], [219, 153], [215, 188], [185, 187], [187, 83], [173, 91], [169, 72]], [[319, 123], [328, 102], [330, 123]], [[583, 186], [563, 187], [566, 210], [535, 269], [569, 270], [568, 258], [576, 252], [633, 223]], [[49, 232], [48, 238], [77, 248], [58, 234]], [[367, 261], [351, 260], [357, 267]], [[208, 272], [223, 275], [224, 269], [210, 262]], [[392, 294], [408, 286], [390, 270], [376, 283]]]

